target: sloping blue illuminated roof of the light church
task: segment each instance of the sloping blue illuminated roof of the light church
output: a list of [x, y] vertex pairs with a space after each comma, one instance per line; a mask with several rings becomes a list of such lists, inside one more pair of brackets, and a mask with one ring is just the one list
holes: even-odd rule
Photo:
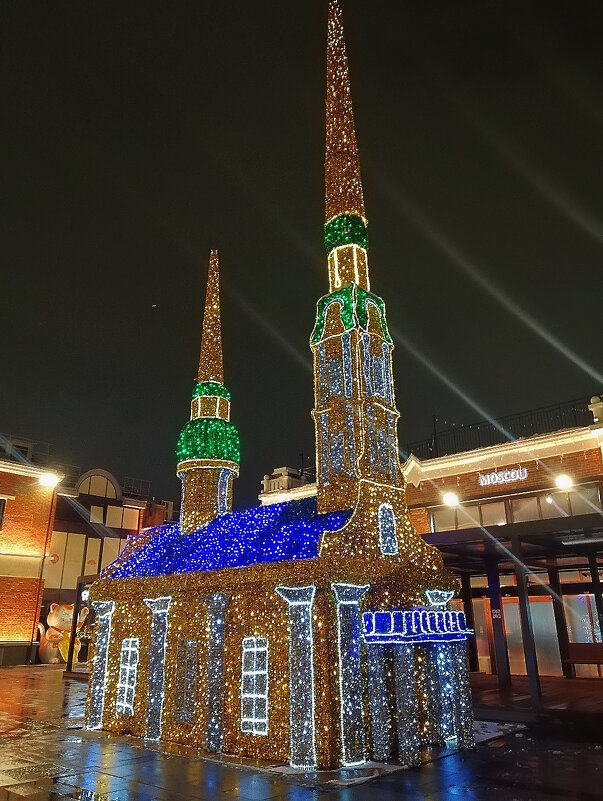
[[316, 498], [302, 498], [229, 512], [192, 534], [182, 535], [178, 523], [159, 526], [139, 534], [144, 544], [133, 553], [126, 547], [102, 577], [142, 578], [312, 559], [318, 556], [323, 532], [341, 528], [351, 514], [319, 514]]

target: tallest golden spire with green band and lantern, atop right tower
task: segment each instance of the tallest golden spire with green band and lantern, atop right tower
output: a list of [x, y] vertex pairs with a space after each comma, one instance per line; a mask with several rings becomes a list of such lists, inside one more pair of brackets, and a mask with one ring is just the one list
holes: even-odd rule
[[338, 0], [329, 3], [326, 105], [324, 236], [330, 291], [350, 283], [368, 290], [367, 223]]

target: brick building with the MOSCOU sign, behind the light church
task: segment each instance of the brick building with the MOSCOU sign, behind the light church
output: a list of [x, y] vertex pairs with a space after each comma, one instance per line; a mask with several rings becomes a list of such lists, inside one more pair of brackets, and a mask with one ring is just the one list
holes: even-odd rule
[[[603, 675], [603, 401], [435, 432], [404, 449], [417, 532], [459, 578], [472, 670]], [[294, 490], [263, 482], [262, 504]]]

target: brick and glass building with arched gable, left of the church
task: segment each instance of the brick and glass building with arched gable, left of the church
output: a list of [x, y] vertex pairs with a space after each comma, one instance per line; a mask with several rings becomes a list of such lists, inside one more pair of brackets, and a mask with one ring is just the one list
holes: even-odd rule
[[46, 443], [1, 436], [0, 447], [0, 665], [8, 665], [35, 660], [51, 606], [71, 614], [80, 578], [94, 580], [129, 536], [171, 520], [173, 504], [150, 500], [146, 481], [57, 464]]

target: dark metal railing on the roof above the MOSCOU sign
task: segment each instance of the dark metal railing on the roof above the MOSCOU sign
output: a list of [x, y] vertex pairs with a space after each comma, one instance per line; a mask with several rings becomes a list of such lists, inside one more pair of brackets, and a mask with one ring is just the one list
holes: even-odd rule
[[481, 420], [463, 426], [452, 426], [438, 430], [438, 419], [434, 416], [433, 434], [428, 439], [408, 442], [401, 446], [400, 455], [407, 458], [413, 453], [419, 459], [433, 459], [461, 451], [500, 445], [521, 437], [549, 434], [564, 428], [578, 428], [593, 421], [588, 404], [590, 397], [578, 398], [528, 412], [519, 412], [496, 420]]

